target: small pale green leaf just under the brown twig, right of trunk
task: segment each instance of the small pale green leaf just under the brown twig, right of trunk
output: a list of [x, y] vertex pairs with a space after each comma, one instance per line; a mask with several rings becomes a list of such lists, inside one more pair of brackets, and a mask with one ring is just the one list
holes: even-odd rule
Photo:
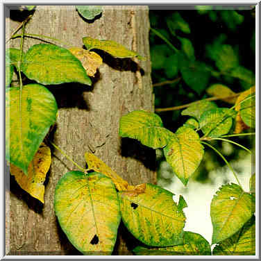
[[217, 108], [216, 103], [212, 103], [211, 101], [197, 101], [189, 106], [187, 109], [183, 110], [181, 112], [181, 115], [188, 115], [199, 120], [204, 112], [215, 108]]

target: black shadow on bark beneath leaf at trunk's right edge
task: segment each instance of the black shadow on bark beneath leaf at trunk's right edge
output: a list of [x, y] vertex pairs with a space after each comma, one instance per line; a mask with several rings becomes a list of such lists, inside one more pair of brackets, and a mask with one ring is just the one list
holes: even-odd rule
[[135, 158], [151, 171], [156, 169], [155, 150], [142, 145], [139, 141], [128, 137], [121, 138], [121, 155], [123, 157]]

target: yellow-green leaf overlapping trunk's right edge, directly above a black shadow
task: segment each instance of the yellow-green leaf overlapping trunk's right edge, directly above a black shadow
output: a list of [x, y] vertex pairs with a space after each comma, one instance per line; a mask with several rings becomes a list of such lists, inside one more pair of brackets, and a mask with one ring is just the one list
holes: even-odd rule
[[166, 146], [171, 132], [163, 127], [158, 115], [144, 110], [135, 110], [121, 117], [119, 135], [139, 140], [145, 146], [158, 149]]

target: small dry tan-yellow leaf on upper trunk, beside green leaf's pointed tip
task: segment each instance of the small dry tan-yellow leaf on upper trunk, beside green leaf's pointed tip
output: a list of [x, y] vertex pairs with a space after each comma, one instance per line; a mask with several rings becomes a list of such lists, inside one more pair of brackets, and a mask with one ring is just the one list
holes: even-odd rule
[[103, 63], [101, 56], [93, 51], [87, 51], [77, 47], [71, 47], [69, 51], [81, 61], [88, 76], [94, 76], [96, 69]]

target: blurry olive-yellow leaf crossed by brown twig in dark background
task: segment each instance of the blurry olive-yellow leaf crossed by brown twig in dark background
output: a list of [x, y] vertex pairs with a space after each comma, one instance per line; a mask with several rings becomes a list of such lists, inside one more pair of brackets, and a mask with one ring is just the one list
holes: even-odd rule
[[[208, 89], [206, 92], [210, 96], [216, 96], [216, 97], [226, 97], [226, 96], [233, 96], [235, 92], [233, 90], [230, 90], [229, 87], [223, 84], [213, 84]], [[226, 101], [227, 103], [234, 104], [236, 101], [237, 97], [232, 97], [232, 98], [227, 98], [227, 99], [221, 99], [221, 101]]]

